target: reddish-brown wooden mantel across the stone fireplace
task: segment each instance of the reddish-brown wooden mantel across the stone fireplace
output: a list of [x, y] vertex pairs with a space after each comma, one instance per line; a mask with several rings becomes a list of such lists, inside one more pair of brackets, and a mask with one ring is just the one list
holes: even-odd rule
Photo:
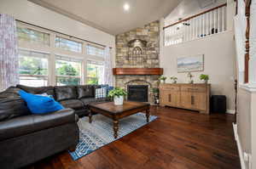
[[163, 68], [113, 68], [113, 75], [163, 75]]

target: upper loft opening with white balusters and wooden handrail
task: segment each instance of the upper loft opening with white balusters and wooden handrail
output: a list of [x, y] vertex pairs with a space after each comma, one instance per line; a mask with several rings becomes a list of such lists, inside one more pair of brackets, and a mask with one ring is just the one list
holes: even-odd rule
[[227, 30], [227, 3], [183, 0], [164, 23], [165, 46], [208, 37]]

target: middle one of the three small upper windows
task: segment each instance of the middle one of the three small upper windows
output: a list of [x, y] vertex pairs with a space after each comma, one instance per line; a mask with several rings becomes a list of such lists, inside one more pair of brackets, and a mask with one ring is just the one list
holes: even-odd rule
[[82, 43], [68, 40], [62, 37], [55, 37], [55, 47], [69, 50], [72, 52], [82, 53]]

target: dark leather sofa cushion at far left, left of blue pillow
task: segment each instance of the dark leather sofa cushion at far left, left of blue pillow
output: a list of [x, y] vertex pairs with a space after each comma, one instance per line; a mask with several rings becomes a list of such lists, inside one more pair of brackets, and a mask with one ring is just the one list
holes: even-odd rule
[[19, 91], [20, 88], [9, 87], [0, 93], [0, 121], [31, 114], [26, 102], [20, 99]]

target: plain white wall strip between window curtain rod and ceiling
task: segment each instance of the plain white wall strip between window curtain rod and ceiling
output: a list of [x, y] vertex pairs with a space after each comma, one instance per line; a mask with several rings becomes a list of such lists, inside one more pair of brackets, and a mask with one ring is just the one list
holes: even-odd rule
[[10, 14], [18, 20], [114, 47], [114, 36], [26, 0], [0, 0], [0, 13]]

